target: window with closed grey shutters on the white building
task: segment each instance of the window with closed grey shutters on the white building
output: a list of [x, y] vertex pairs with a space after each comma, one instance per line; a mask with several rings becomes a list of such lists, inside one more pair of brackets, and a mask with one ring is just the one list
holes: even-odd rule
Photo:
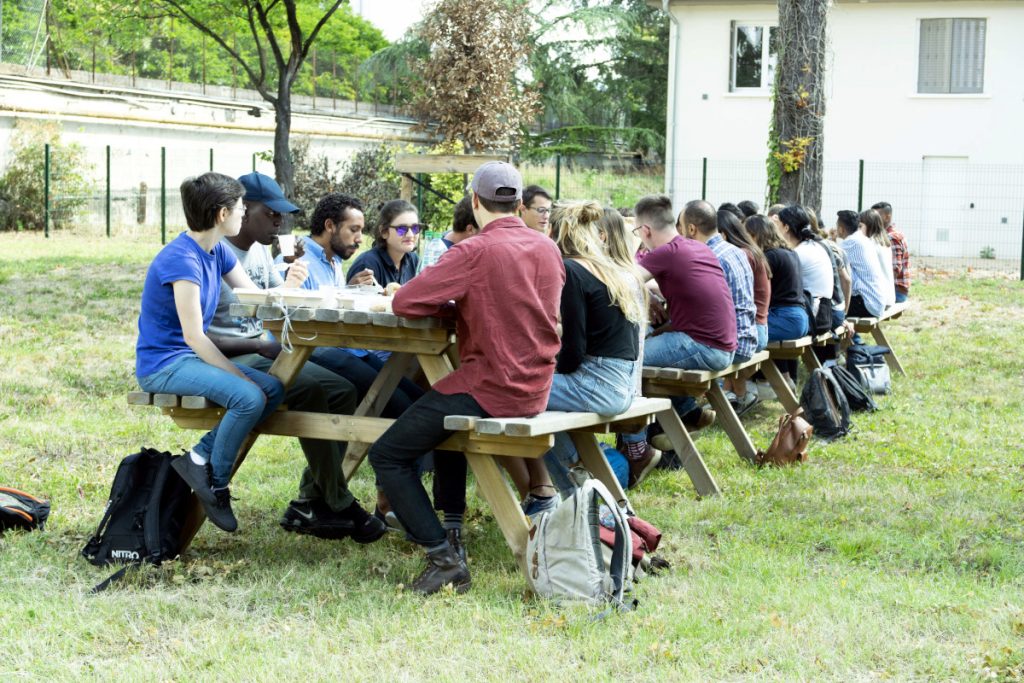
[[983, 92], [985, 19], [922, 19], [918, 92]]

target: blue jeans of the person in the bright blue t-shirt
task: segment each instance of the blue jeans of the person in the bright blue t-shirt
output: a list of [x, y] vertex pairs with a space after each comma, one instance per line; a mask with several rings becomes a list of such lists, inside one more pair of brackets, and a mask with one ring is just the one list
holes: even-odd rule
[[213, 466], [211, 483], [216, 487], [227, 485], [242, 441], [285, 397], [285, 386], [276, 377], [238, 362], [233, 365], [252, 382], [214, 368], [195, 353], [181, 356], [163, 370], [138, 380], [143, 391], [205, 396], [224, 408], [220, 423], [194, 446], [197, 454], [210, 459]]

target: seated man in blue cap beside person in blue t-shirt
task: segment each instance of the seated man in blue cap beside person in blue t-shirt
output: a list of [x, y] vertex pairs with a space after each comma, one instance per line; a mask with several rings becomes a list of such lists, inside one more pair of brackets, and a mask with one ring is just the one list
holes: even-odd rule
[[[239, 233], [226, 237], [222, 244], [257, 287], [301, 287], [305, 263], [293, 263], [288, 281], [283, 281], [267, 248], [281, 229], [283, 214], [296, 213], [298, 207], [285, 199], [273, 178], [250, 173], [239, 181], [246, 188], [246, 215]], [[220, 288], [208, 335], [232, 362], [267, 372], [281, 353], [281, 344], [265, 337], [260, 319], [233, 317], [230, 306], [237, 301], [229, 287]], [[351, 415], [357, 403], [350, 382], [312, 362], [305, 364], [286, 389], [285, 402], [291, 410], [334, 415]], [[347, 443], [300, 438], [299, 445], [307, 466], [299, 482], [299, 497], [285, 510], [282, 526], [324, 539], [351, 538], [357, 543], [372, 543], [384, 536], [384, 523], [367, 514], [348, 490], [341, 470]]]

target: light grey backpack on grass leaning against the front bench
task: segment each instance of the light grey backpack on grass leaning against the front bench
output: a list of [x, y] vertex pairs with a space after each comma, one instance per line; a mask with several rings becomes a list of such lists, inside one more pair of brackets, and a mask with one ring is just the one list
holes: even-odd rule
[[[601, 550], [601, 503], [614, 522], [611, 561]], [[534, 518], [526, 540], [526, 581], [544, 598], [611, 602], [628, 608], [633, 540], [614, 497], [597, 479], [588, 479], [558, 507]]]

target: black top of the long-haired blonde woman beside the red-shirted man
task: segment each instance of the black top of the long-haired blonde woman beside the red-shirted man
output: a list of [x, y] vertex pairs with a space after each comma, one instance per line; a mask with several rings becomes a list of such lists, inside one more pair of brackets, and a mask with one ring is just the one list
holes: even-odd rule
[[584, 355], [636, 360], [640, 354], [637, 326], [611, 305], [608, 288], [590, 270], [564, 259], [562, 350], [555, 372], [575, 372]]

